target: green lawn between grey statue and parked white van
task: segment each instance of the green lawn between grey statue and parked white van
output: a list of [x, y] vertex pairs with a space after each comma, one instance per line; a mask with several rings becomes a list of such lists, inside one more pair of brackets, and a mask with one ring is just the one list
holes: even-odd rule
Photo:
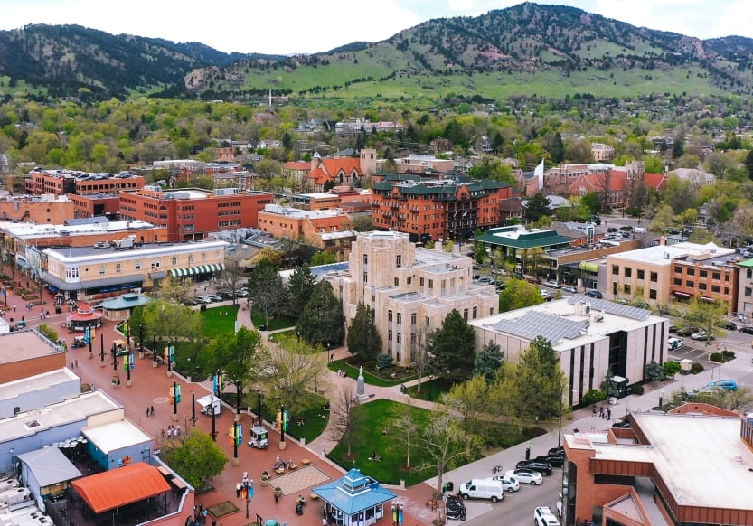
[[[352, 457], [347, 457], [348, 449], [342, 443], [334, 447], [329, 457], [343, 469], [349, 470], [357, 467], [363, 474], [375, 478], [382, 484], [400, 484], [400, 479], [404, 479], [405, 484], [413, 485], [435, 476], [437, 470], [433, 467], [422, 472], [408, 470], [405, 467], [406, 445], [396, 437], [398, 431], [392, 427], [392, 421], [397, 418], [402, 407], [404, 404], [388, 399], [376, 399], [362, 404], [360, 409], [363, 414], [363, 428], [351, 444]], [[411, 411], [411, 418], [414, 418], [419, 425], [425, 424], [430, 417], [427, 409], [414, 407]], [[387, 427], [387, 435], [382, 435], [383, 427]], [[369, 460], [372, 452], [381, 456], [381, 462]], [[411, 446], [411, 466], [415, 468], [417, 465], [429, 462], [426, 453], [416, 446]]]

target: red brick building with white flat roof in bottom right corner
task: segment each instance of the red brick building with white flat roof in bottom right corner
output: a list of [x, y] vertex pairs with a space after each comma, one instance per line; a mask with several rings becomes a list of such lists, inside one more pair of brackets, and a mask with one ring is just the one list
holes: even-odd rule
[[698, 403], [628, 419], [564, 436], [563, 526], [753, 524], [753, 419]]

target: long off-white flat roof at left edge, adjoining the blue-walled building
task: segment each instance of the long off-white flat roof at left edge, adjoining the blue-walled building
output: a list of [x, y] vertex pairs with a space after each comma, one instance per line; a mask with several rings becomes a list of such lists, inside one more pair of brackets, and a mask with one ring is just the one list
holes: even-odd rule
[[114, 399], [100, 390], [82, 393], [42, 409], [18, 413], [0, 420], [0, 444], [24, 437], [33, 437], [42, 430], [80, 422], [92, 415], [123, 409]]

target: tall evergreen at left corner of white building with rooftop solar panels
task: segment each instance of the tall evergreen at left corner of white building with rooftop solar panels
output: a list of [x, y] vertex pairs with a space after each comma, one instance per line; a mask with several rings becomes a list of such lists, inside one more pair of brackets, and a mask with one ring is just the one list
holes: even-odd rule
[[474, 370], [474, 343], [473, 327], [453, 309], [442, 326], [428, 336], [431, 369], [452, 382], [468, 380]]

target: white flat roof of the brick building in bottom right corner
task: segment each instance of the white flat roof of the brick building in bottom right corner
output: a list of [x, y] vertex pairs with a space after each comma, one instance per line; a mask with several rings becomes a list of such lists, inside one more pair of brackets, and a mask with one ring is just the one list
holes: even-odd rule
[[595, 458], [650, 462], [678, 503], [753, 510], [753, 452], [740, 438], [740, 418], [634, 412], [648, 445], [591, 444], [588, 433], [566, 435], [571, 448]]

